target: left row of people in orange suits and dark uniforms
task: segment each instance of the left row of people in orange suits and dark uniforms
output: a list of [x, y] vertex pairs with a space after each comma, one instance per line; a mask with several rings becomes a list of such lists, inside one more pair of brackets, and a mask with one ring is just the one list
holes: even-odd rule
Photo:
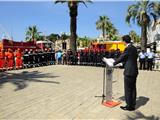
[[22, 52], [20, 49], [17, 49], [16, 52], [13, 52], [12, 49], [8, 49], [5, 52], [2, 49], [0, 50], [0, 71], [54, 64], [54, 54], [50, 50], [45, 52], [25, 50]]

